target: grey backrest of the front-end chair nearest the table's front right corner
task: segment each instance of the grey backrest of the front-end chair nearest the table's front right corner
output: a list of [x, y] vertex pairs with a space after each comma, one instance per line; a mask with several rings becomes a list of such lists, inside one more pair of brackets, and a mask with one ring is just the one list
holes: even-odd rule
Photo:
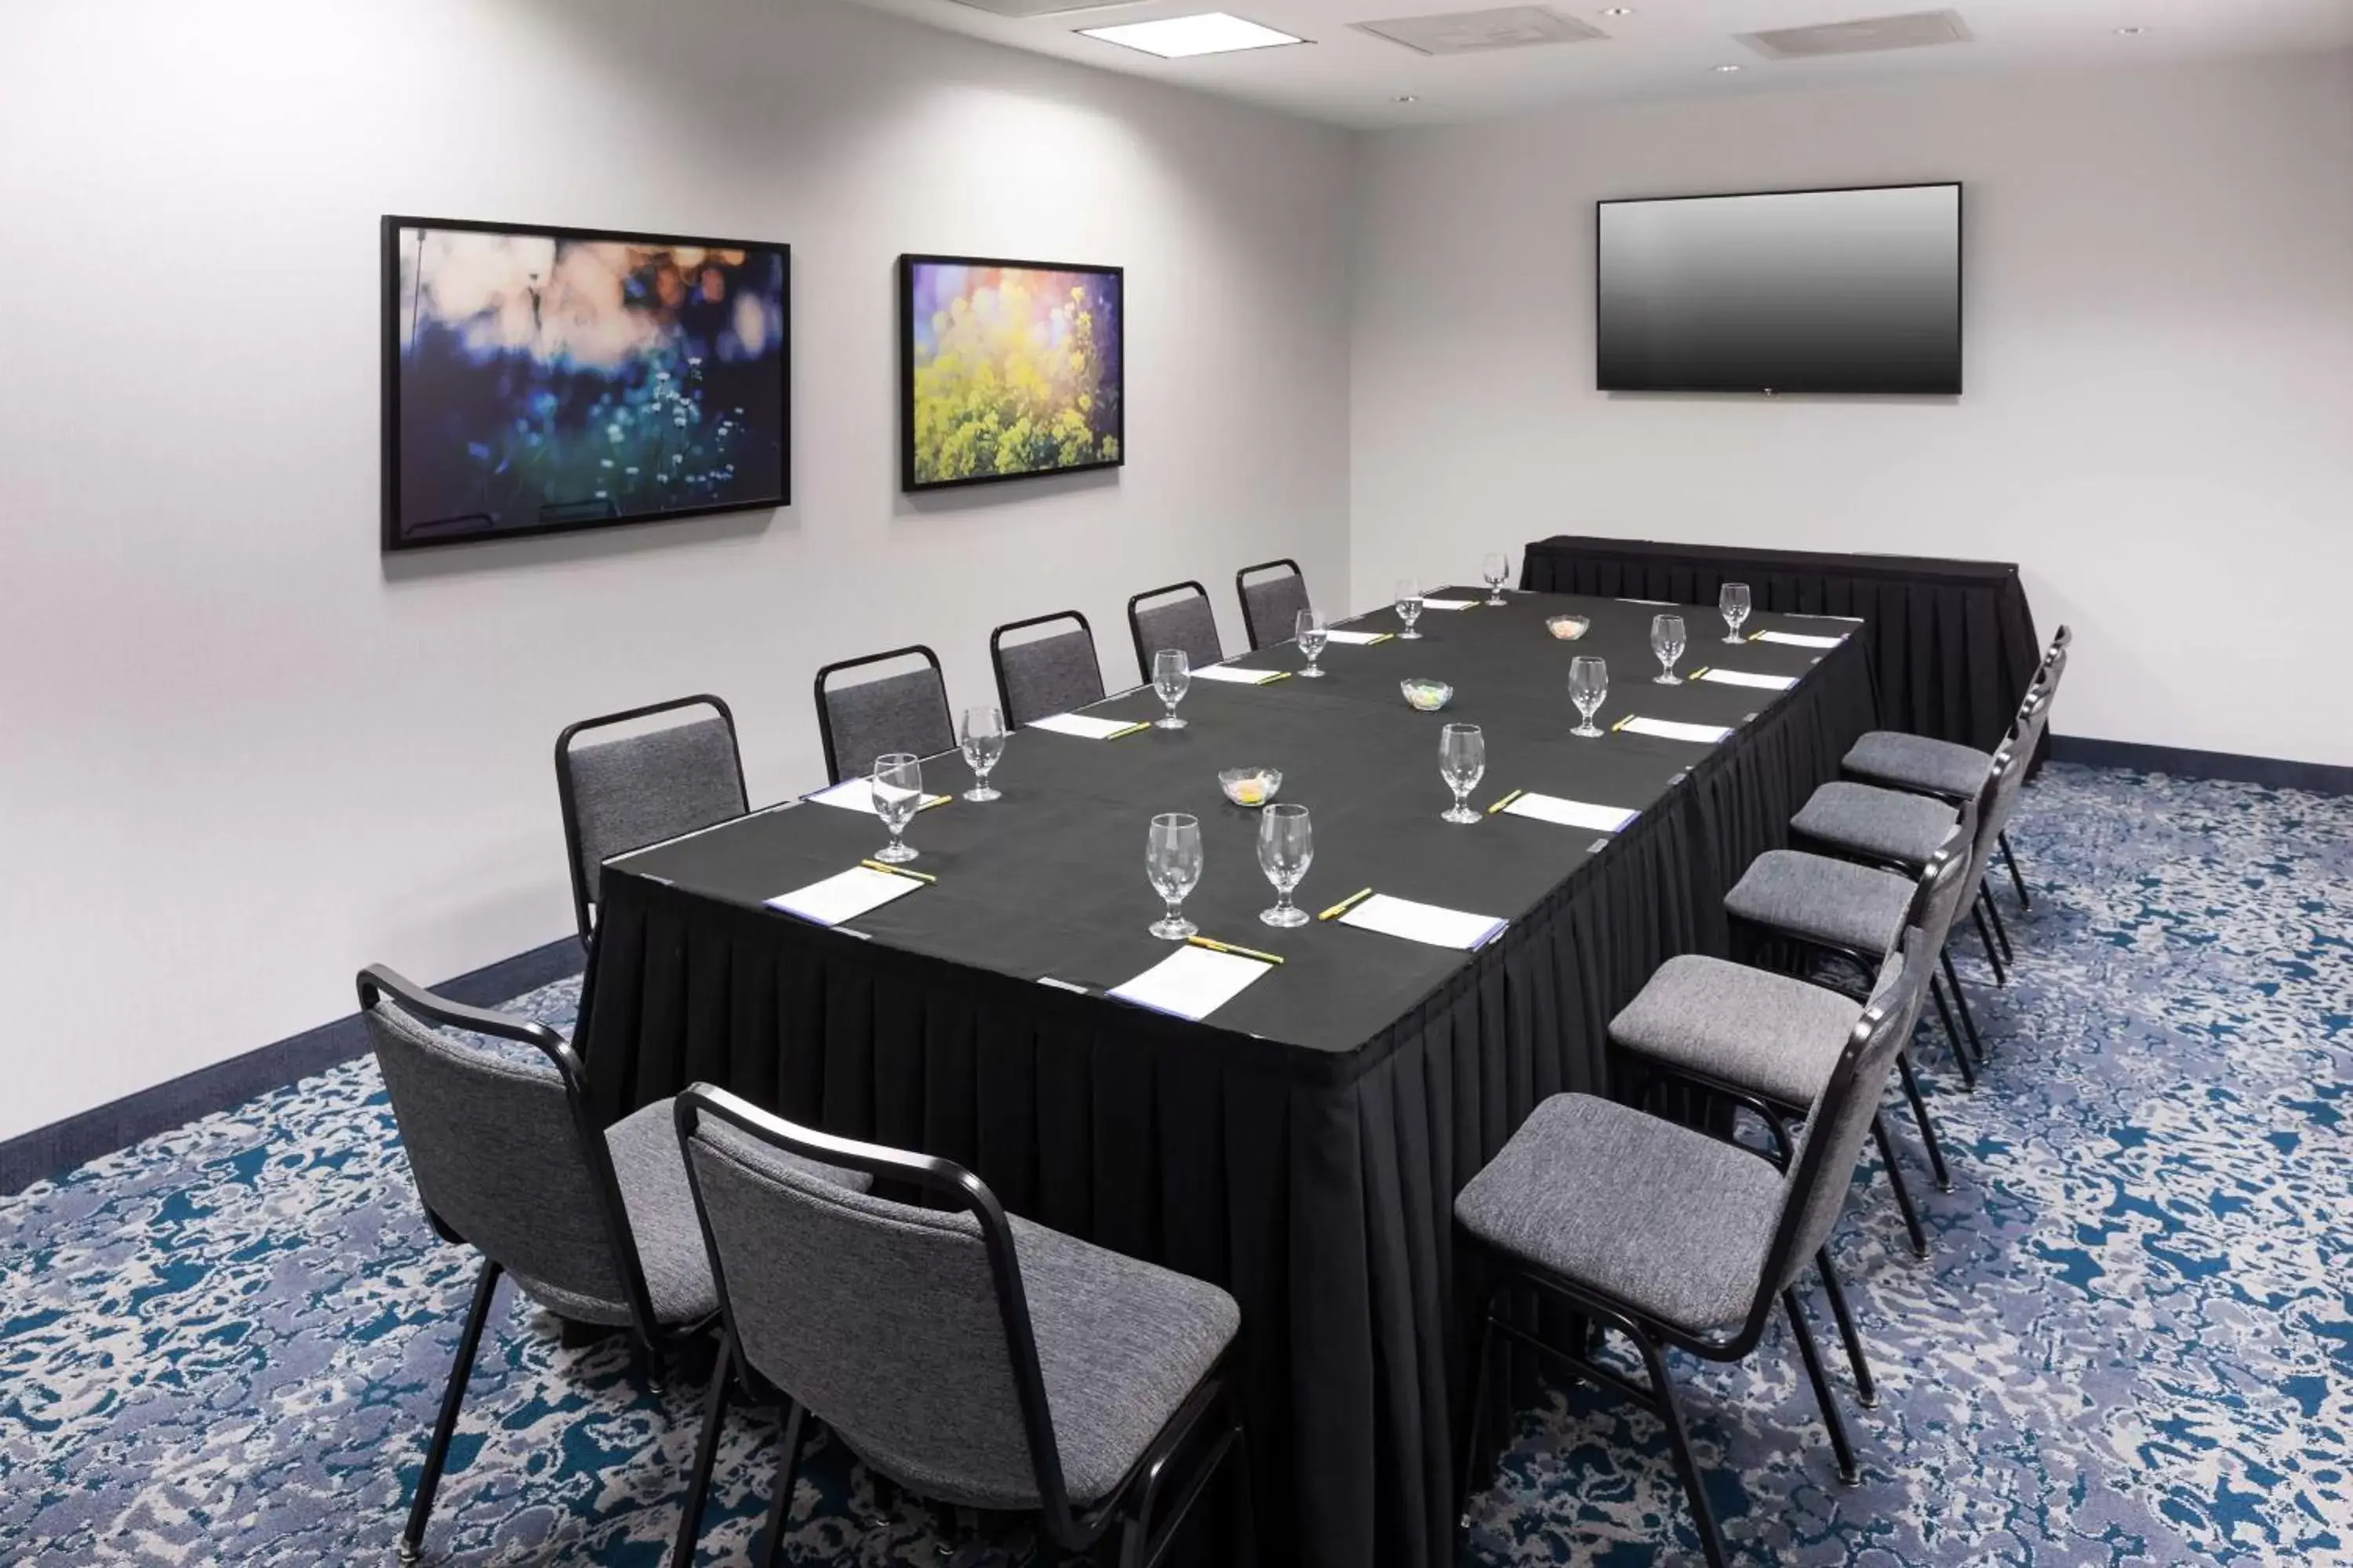
[[[678, 1095], [678, 1138], [746, 1371], [932, 1497], [1068, 1516], [1012, 1225], [976, 1175], [708, 1084]], [[939, 1206], [852, 1192], [779, 1154]]]

